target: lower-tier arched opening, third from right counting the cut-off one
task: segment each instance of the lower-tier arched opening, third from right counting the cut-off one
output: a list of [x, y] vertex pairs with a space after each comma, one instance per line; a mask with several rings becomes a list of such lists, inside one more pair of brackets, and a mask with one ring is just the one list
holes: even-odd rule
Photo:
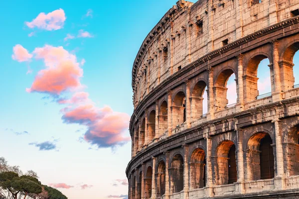
[[218, 185], [237, 182], [236, 146], [230, 140], [221, 142], [217, 149], [217, 164], [215, 173], [218, 175]]

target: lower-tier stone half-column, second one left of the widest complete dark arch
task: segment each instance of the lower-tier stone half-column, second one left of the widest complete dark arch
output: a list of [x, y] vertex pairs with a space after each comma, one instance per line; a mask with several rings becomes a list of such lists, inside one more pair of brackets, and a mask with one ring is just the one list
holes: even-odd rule
[[207, 150], [206, 150], [206, 187], [205, 194], [206, 197], [213, 197], [213, 171], [212, 171], [212, 141], [208, 135], [208, 128], [205, 129], [204, 139], [206, 140]]

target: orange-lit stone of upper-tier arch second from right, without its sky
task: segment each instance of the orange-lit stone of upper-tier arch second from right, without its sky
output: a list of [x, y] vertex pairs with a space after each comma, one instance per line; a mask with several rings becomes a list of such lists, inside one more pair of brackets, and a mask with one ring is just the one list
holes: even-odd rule
[[248, 61], [245, 71], [244, 71], [244, 76], [243, 76], [243, 83], [244, 83], [244, 100], [245, 101], [252, 101], [256, 100], [258, 96], [260, 95], [260, 92], [258, 90], [258, 68], [259, 64], [261, 63], [262, 60], [268, 59], [270, 62], [270, 85], [271, 85], [271, 91], [274, 91], [274, 82], [273, 79], [273, 65], [271, 56], [269, 56], [267, 53], [264, 52], [259, 52], [254, 54]]

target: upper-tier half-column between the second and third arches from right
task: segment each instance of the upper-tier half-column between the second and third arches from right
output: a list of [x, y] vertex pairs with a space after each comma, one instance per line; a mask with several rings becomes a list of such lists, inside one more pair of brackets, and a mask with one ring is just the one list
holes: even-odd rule
[[243, 91], [243, 55], [237, 56], [238, 60], [238, 101], [236, 104], [236, 110], [242, 111], [244, 109], [244, 91]]

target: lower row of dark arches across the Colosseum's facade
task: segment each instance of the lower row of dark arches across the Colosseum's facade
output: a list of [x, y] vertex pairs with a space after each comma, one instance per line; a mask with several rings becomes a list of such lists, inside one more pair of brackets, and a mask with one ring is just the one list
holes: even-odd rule
[[[259, 131], [253, 134], [248, 142], [247, 149], [244, 150], [244, 168], [246, 169], [245, 180], [256, 181], [273, 179], [276, 175], [275, 157], [276, 152], [274, 150], [275, 141], [273, 139], [273, 133], [267, 131]], [[295, 159], [289, 159], [287, 162], [299, 161], [299, 124], [295, 125], [288, 131], [288, 143], [296, 145], [296, 150], [288, 152], [291, 157]], [[237, 147], [231, 140], [221, 141], [215, 151], [212, 158], [207, 159], [206, 149], [198, 146], [195, 148], [188, 158], [184, 158], [184, 155], [180, 152], [173, 154], [169, 163], [165, 159], [161, 158], [155, 165], [148, 165], [145, 171], [135, 173], [134, 179], [130, 181], [130, 187], [133, 189], [133, 198], [141, 199], [141, 194], [144, 193], [145, 199], [151, 198], [152, 193], [152, 179], [155, 181], [155, 197], [162, 197], [167, 189], [168, 184], [169, 194], [179, 193], [184, 189], [184, 164], [188, 164], [188, 189], [200, 189], [206, 187], [207, 184], [207, 161], [213, 161], [213, 185], [228, 185], [238, 181], [238, 161], [237, 161]], [[167, 160], [167, 158], [166, 158]], [[187, 160], [187, 162], [185, 162]], [[166, 164], [169, 164], [166, 167]], [[291, 163], [292, 164], [292, 163]], [[153, 169], [152, 167], [155, 167]], [[167, 170], [168, 168], [168, 170]], [[169, 178], [166, 177], [168, 171]], [[298, 169], [292, 170], [291, 176], [299, 175]], [[153, 173], [155, 171], [155, 173]], [[146, 172], [144, 182], [142, 182], [143, 172]], [[169, 179], [169, 181], [167, 181]], [[142, 183], [145, 183], [144, 190], [142, 190]], [[136, 189], [137, 192], [136, 192]], [[135, 193], [138, 193], [135, 195]]]

